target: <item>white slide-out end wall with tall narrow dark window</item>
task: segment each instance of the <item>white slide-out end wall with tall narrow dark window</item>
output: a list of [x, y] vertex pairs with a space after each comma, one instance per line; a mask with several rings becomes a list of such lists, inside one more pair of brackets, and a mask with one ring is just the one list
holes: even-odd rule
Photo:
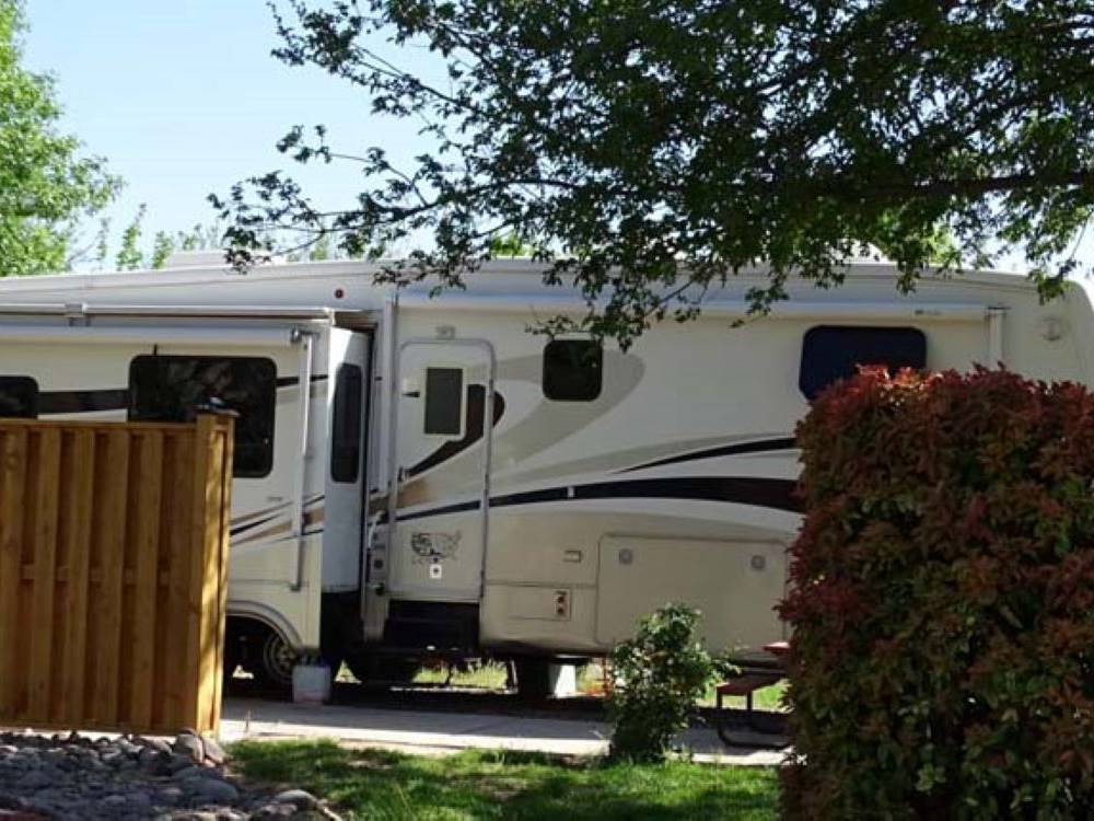
[[323, 589], [357, 590], [361, 578], [368, 481], [369, 335], [331, 328], [327, 373], [328, 465], [323, 531]]

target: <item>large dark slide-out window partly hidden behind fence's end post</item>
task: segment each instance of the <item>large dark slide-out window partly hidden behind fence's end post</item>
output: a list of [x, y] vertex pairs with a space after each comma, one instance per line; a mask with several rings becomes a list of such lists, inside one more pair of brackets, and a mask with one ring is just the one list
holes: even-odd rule
[[274, 467], [277, 366], [252, 357], [139, 356], [129, 365], [129, 418], [193, 421], [197, 408], [235, 410], [235, 471], [259, 478]]

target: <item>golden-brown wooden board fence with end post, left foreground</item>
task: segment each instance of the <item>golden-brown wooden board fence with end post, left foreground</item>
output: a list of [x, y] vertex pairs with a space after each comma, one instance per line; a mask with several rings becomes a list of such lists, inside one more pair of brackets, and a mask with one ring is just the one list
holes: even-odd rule
[[0, 420], [0, 725], [217, 729], [232, 430]]

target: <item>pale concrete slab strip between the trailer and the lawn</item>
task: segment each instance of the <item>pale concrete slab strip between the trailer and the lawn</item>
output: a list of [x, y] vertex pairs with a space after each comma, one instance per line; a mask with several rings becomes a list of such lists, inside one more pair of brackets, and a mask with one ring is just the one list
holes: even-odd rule
[[[603, 755], [610, 727], [593, 719], [525, 718], [489, 714], [375, 709], [229, 698], [220, 737], [241, 739], [333, 739], [361, 747], [438, 754], [468, 749], [520, 750], [559, 755]], [[748, 733], [742, 732], [746, 739]], [[761, 738], [761, 737], [757, 737]], [[769, 738], [769, 737], [767, 737]], [[682, 739], [697, 761], [770, 766], [778, 750], [730, 749], [712, 729], [691, 729]]]

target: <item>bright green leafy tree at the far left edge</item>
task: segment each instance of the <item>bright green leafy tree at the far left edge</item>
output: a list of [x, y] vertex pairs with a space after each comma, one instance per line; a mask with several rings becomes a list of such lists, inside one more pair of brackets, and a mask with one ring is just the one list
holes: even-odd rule
[[58, 132], [53, 81], [23, 68], [18, 0], [0, 0], [0, 276], [62, 270], [75, 223], [101, 210], [119, 181]]

